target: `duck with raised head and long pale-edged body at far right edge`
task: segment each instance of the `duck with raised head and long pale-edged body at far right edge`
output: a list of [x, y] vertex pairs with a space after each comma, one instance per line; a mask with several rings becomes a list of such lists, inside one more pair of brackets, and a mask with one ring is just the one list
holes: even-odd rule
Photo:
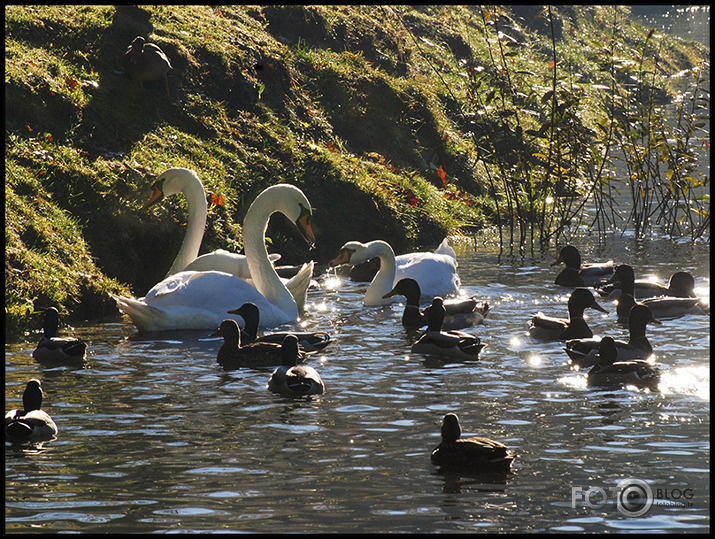
[[[710, 310], [709, 306], [697, 297], [654, 296], [637, 301], [635, 298], [635, 273], [633, 267], [628, 264], [618, 266], [609, 283], [620, 284], [616, 314], [622, 320], [628, 319], [631, 309], [636, 304], [647, 306], [658, 320], [679, 318], [686, 314], [706, 314]], [[694, 288], [694, 284], [692, 288]]]

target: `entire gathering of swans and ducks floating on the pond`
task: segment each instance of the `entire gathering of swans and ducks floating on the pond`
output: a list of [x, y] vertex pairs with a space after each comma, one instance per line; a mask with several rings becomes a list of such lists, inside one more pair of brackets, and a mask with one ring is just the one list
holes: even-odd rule
[[[152, 185], [144, 207], [182, 193], [188, 202], [188, 222], [179, 253], [166, 277], [143, 298], [115, 295], [117, 306], [140, 332], [168, 329], [210, 329], [223, 343], [217, 361], [224, 369], [276, 366], [267, 389], [287, 397], [318, 395], [325, 391], [320, 374], [305, 364], [331, 342], [327, 332], [284, 331], [259, 335], [259, 328], [294, 323], [303, 314], [314, 262], [296, 268], [277, 266], [279, 255], [269, 255], [265, 232], [270, 216], [286, 215], [308, 243], [315, 237], [310, 202], [297, 187], [279, 184], [261, 192], [249, 207], [243, 224], [245, 254], [217, 250], [198, 256], [206, 225], [206, 193], [195, 172], [171, 168]], [[379, 259], [379, 266], [374, 259]], [[708, 304], [695, 296], [694, 279], [685, 272], [674, 274], [668, 285], [636, 281], [631, 266], [583, 264], [578, 249], [561, 249], [552, 265], [565, 268], [557, 285], [574, 288], [568, 299], [568, 318], [538, 313], [528, 323], [529, 335], [541, 341], [563, 343], [574, 368], [590, 367], [588, 383], [597, 386], [634, 385], [654, 389], [659, 370], [646, 337], [646, 325], [685, 314], [709, 314]], [[475, 297], [453, 297], [460, 287], [454, 250], [445, 239], [434, 252], [395, 256], [384, 241], [349, 241], [330, 262], [348, 265], [355, 280], [369, 281], [363, 298], [366, 306], [383, 305], [405, 298], [402, 324], [417, 330], [411, 350], [418, 354], [478, 359], [485, 344], [461, 331], [484, 323], [490, 311]], [[360, 273], [367, 272], [360, 276]], [[422, 295], [431, 304], [420, 309]], [[584, 319], [587, 308], [602, 312], [596, 296], [617, 298], [617, 315], [627, 322], [630, 338], [594, 338]], [[656, 315], [657, 313], [657, 315]], [[421, 328], [426, 328], [422, 330]], [[45, 312], [44, 335], [33, 352], [38, 361], [83, 361], [87, 345], [75, 337], [58, 336], [59, 315]], [[57, 426], [41, 410], [42, 387], [30, 380], [23, 394], [23, 410], [5, 416], [5, 436], [10, 442], [52, 439]], [[440, 468], [508, 468], [513, 452], [488, 438], [461, 438], [459, 419], [444, 416], [442, 441], [431, 454]]]

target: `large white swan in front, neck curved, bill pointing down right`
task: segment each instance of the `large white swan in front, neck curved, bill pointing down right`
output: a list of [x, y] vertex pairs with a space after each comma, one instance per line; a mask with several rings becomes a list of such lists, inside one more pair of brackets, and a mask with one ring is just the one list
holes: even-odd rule
[[[246, 302], [258, 306], [262, 326], [294, 322], [305, 305], [313, 262], [304, 264], [285, 284], [278, 276], [265, 244], [268, 220], [277, 211], [293, 221], [309, 243], [315, 241], [310, 202], [300, 189], [280, 184], [263, 191], [248, 208], [243, 224], [254, 285], [220, 271], [182, 271], [156, 284], [144, 298], [112, 297], [139, 331], [216, 329], [224, 319], [232, 318], [228, 311]], [[236, 315], [233, 318], [240, 320]]]

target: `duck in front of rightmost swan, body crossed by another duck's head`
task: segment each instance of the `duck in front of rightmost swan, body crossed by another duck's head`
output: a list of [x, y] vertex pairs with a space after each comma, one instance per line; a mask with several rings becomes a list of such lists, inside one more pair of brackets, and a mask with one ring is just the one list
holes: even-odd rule
[[[402, 313], [402, 325], [409, 329], [419, 329], [427, 325], [428, 313], [431, 307], [420, 311], [420, 285], [409, 277], [400, 279], [395, 287], [385, 294], [385, 298], [392, 296], [405, 296], [405, 310]], [[445, 317], [443, 329], [463, 329], [484, 324], [484, 319], [489, 312], [489, 304], [485, 301], [477, 302], [476, 296], [465, 299], [444, 300]]]

